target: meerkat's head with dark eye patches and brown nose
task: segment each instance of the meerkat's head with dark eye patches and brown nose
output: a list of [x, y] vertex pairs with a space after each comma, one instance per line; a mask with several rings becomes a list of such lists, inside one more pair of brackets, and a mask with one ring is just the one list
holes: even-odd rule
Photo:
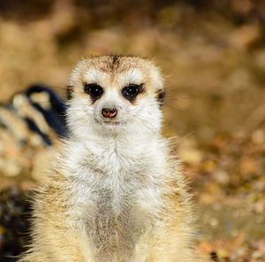
[[76, 135], [157, 132], [164, 94], [159, 69], [148, 59], [88, 58], [72, 71], [68, 126]]

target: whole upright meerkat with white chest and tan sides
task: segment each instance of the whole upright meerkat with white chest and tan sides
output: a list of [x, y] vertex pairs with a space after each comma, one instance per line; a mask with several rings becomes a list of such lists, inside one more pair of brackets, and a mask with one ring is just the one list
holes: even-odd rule
[[64, 139], [34, 199], [20, 262], [193, 262], [187, 182], [161, 134], [163, 77], [137, 57], [72, 71]]

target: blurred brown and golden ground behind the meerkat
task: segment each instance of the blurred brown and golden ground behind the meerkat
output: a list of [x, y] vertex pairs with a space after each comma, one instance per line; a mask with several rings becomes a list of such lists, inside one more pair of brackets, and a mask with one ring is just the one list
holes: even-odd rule
[[[0, 261], [21, 250], [28, 223], [19, 214], [57, 147], [23, 94], [43, 83], [65, 98], [80, 58], [113, 53], [162, 67], [163, 133], [176, 137], [193, 181], [198, 249], [213, 261], [265, 261], [263, 0], [1, 1]], [[34, 99], [49, 108], [45, 94]]]

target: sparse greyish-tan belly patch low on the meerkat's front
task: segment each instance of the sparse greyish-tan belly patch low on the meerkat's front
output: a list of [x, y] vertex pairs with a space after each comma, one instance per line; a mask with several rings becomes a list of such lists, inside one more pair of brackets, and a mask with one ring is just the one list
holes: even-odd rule
[[138, 208], [132, 197], [125, 192], [120, 192], [120, 196], [116, 194], [108, 188], [100, 189], [95, 194], [94, 216], [86, 221], [87, 234], [97, 250], [98, 261], [130, 257], [145, 225], [145, 219], [137, 221]]

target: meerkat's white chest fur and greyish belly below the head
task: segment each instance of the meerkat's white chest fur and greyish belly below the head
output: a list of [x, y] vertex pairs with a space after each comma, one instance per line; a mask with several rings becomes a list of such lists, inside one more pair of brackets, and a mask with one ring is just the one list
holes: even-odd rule
[[162, 206], [163, 142], [94, 137], [67, 148], [72, 215], [86, 224], [99, 261], [128, 258]]

